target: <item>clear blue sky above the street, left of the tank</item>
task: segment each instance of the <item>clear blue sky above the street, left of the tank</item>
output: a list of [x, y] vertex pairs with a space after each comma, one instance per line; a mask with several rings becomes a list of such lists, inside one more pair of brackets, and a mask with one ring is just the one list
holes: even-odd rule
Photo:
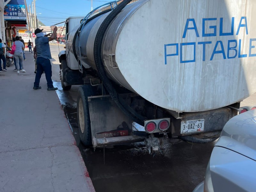
[[[33, 0], [27, 0], [28, 12], [29, 5], [32, 6]], [[93, 9], [108, 3], [108, 0], [93, 0]], [[51, 26], [71, 16], [86, 16], [91, 11], [91, 0], [36, 0], [36, 16], [46, 26]], [[32, 12], [32, 7], [31, 7]], [[42, 13], [42, 14], [39, 14]], [[60, 24], [61, 26], [64, 24]]]

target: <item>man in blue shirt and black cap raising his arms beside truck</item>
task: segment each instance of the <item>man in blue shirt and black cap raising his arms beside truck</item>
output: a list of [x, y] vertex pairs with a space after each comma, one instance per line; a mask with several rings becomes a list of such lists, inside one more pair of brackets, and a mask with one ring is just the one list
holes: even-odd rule
[[37, 64], [37, 73], [35, 78], [35, 83], [33, 89], [41, 89], [41, 86], [39, 86], [40, 78], [45, 73], [45, 78], [47, 81], [47, 90], [48, 91], [54, 91], [57, 90], [57, 87], [53, 87], [52, 84], [52, 65], [50, 59], [52, 59], [51, 56], [51, 50], [49, 41], [52, 41], [56, 37], [56, 31], [57, 27], [53, 29], [53, 33], [50, 37], [50, 34], [47, 34], [44, 36], [44, 33], [42, 32], [43, 29], [37, 28], [35, 30], [35, 44], [36, 44], [36, 52], [37, 52], [37, 58], [36, 58], [36, 64]]

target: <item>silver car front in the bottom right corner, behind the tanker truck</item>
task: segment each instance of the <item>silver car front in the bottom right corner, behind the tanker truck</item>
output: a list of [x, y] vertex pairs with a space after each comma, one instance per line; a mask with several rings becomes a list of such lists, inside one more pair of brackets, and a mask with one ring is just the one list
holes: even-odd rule
[[256, 191], [256, 110], [230, 119], [194, 192]]

